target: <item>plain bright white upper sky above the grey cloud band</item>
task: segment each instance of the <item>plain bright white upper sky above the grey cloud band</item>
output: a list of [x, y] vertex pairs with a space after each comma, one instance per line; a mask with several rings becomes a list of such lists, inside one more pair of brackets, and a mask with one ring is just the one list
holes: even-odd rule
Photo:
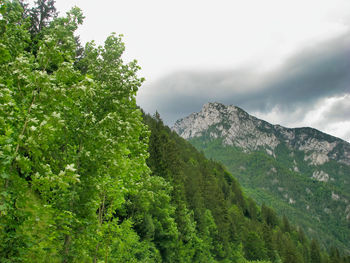
[[123, 33], [126, 59], [138, 59], [149, 81], [175, 70], [256, 64], [271, 69], [301, 46], [346, 30], [347, 0], [57, 0], [77, 5], [83, 41]]

